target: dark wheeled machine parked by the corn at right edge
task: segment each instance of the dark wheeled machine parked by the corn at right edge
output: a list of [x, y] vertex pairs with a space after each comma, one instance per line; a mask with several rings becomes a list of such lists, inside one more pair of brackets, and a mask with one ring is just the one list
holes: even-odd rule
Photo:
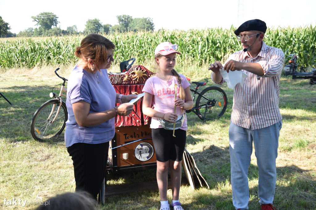
[[312, 68], [311, 71], [305, 72], [304, 68], [301, 67], [300, 71], [297, 71], [297, 55], [290, 54], [289, 57], [289, 64], [286, 65], [284, 70], [284, 75], [292, 75], [292, 79], [309, 79], [309, 84], [315, 85], [316, 84], [316, 69]]

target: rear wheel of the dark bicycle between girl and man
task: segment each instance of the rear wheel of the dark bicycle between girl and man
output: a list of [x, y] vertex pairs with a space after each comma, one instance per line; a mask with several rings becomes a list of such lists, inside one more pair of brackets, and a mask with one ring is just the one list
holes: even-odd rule
[[226, 93], [216, 86], [207, 87], [197, 96], [195, 108], [197, 108], [197, 116], [201, 120], [219, 118], [227, 108]]

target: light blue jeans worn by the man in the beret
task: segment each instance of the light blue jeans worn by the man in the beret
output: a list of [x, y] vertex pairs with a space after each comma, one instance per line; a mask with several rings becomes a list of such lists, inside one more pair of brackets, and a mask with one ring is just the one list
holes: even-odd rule
[[272, 204], [276, 187], [276, 157], [281, 127], [282, 121], [257, 130], [230, 123], [230, 172], [233, 205], [236, 209], [248, 209], [248, 168], [251, 161], [252, 143], [259, 169], [259, 203]]

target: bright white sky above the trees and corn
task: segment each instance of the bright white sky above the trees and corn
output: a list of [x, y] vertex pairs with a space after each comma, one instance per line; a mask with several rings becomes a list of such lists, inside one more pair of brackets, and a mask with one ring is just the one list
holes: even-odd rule
[[246, 20], [260, 19], [270, 28], [316, 25], [315, 0], [0, 0], [0, 16], [12, 33], [36, 28], [31, 16], [52, 12], [58, 27], [85, 29], [88, 19], [116, 25], [117, 15], [149, 17], [155, 30], [237, 28]]

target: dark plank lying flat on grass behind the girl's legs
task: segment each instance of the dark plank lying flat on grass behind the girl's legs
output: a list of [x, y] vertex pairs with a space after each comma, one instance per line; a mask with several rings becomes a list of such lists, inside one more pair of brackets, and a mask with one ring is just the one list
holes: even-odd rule
[[[185, 178], [181, 178], [181, 185], [187, 185]], [[168, 179], [168, 189], [171, 189], [171, 180]], [[128, 194], [137, 191], [159, 190], [157, 180], [141, 183], [113, 185], [105, 188], [105, 196]]]

